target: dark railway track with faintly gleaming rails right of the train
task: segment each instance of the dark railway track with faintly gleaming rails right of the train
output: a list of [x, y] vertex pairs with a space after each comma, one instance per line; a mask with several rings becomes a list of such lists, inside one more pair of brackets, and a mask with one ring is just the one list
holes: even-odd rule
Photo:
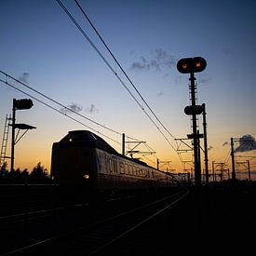
[[87, 220], [81, 221], [81, 215], [79, 225], [69, 225], [58, 234], [2, 255], [135, 255], [132, 251], [143, 249], [142, 241], [152, 236], [151, 226], [157, 225], [163, 213], [171, 214], [188, 193], [183, 189], [142, 205], [132, 200], [119, 202], [118, 206], [111, 202], [98, 212], [91, 210], [88, 214], [87, 210]]

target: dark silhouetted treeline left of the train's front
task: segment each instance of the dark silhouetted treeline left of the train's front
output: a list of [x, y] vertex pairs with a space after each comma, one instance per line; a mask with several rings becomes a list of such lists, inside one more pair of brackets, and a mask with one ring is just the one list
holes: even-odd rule
[[25, 184], [25, 183], [52, 183], [49, 177], [47, 168], [42, 166], [41, 162], [33, 168], [31, 172], [27, 168], [20, 170], [20, 168], [14, 170], [7, 169], [7, 163], [4, 163], [0, 169], [0, 183], [14, 183], [14, 184]]

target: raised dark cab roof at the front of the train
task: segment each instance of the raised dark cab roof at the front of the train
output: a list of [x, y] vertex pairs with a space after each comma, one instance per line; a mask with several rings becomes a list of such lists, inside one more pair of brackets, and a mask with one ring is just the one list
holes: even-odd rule
[[80, 145], [91, 145], [111, 154], [118, 154], [115, 149], [100, 136], [89, 130], [71, 130], [57, 144], [75, 143]]

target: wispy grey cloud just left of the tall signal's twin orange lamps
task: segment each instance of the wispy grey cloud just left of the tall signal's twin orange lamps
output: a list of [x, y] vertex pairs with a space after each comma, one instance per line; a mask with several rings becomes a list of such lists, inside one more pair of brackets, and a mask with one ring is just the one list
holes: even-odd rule
[[170, 70], [175, 65], [175, 59], [172, 55], [168, 54], [162, 48], [156, 48], [151, 51], [152, 58], [146, 59], [141, 56], [140, 61], [134, 61], [131, 64], [132, 70], [155, 70], [156, 72], [161, 72], [164, 70]]

